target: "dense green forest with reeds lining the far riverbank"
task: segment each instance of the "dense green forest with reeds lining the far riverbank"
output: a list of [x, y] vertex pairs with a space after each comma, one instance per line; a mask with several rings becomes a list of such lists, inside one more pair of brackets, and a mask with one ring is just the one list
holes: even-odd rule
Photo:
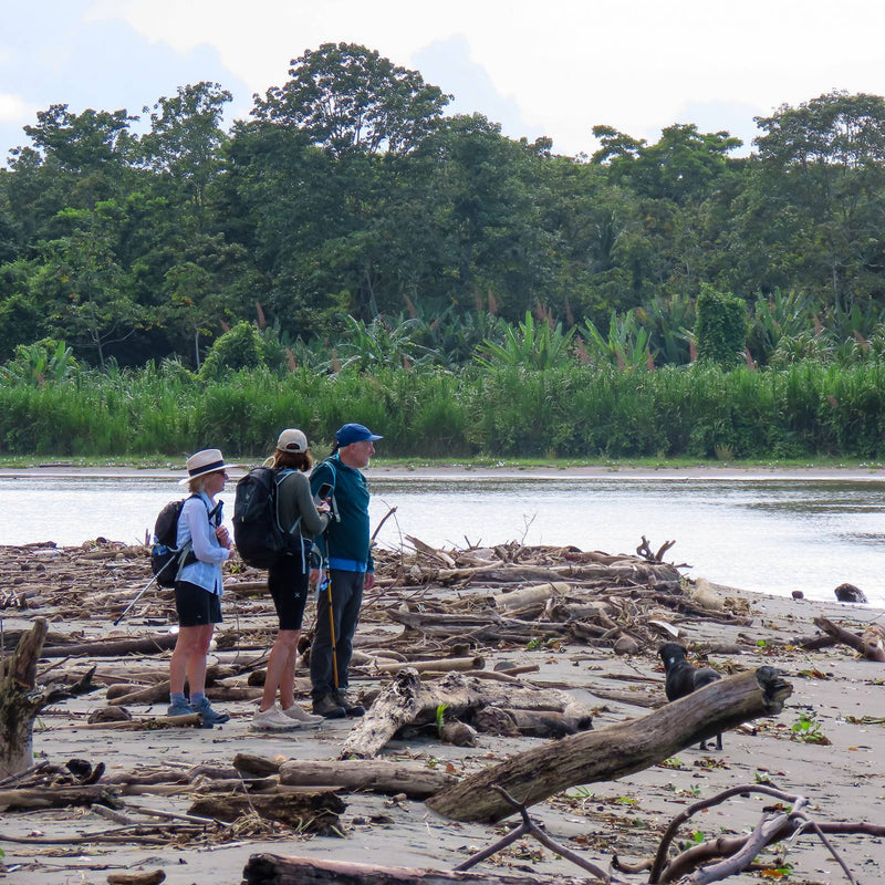
[[[186, 451], [274, 391], [223, 440], [374, 416], [400, 452], [879, 454], [882, 97], [784, 105], [749, 156], [727, 132], [601, 124], [568, 157], [447, 116], [363, 46], [289, 76], [229, 131], [209, 82], [140, 118], [55, 104], [25, 127], [0, 170], [0, 450]], [[344, 388], [343, 412], [304, 407]]]

